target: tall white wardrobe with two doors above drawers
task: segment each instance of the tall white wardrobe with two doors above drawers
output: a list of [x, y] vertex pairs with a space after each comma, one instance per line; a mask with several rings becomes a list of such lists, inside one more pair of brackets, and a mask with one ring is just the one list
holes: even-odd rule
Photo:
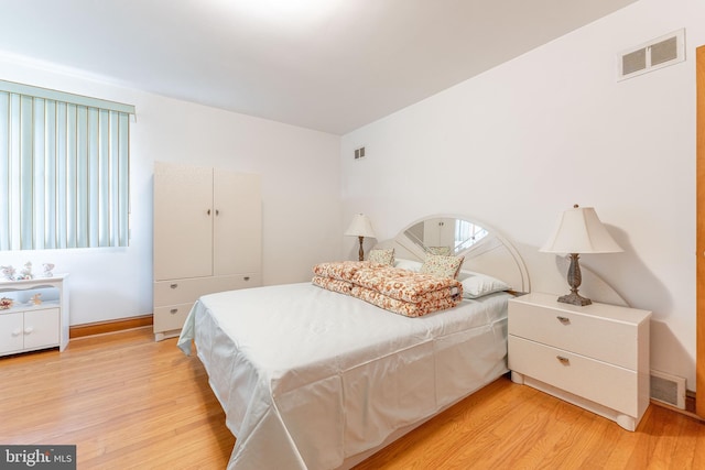
[[177, 336], [200, 295], [262, 284], [260, 176], [154, 164], [154, 339]]

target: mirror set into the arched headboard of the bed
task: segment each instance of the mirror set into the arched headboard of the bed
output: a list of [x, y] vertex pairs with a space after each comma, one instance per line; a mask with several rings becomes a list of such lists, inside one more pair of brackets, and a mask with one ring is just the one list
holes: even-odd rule
[[426, 253], [458, 254], [487, 236], [487, 230], [470, 221], [453, 217], [426, 219], [404, 234]]

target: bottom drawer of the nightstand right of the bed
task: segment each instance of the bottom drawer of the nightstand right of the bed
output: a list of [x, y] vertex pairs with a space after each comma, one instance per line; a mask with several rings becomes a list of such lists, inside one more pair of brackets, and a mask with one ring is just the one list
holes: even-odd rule
[[629, 416], [640, 416], [636, 371], [512, 335], [509, 369]]

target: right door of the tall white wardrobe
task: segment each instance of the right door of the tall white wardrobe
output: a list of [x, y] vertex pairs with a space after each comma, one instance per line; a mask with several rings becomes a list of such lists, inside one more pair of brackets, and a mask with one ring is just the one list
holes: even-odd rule
[[261, 271], [260, 176], [214, 172], [214, 275]]

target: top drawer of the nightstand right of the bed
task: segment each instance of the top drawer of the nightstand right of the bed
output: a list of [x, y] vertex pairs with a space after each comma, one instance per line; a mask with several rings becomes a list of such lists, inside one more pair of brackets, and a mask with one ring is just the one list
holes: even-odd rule
[[509, 303], [509, 334], [558, 349], [637, 370], [639, 345], [636, 325], [568, 308]]

